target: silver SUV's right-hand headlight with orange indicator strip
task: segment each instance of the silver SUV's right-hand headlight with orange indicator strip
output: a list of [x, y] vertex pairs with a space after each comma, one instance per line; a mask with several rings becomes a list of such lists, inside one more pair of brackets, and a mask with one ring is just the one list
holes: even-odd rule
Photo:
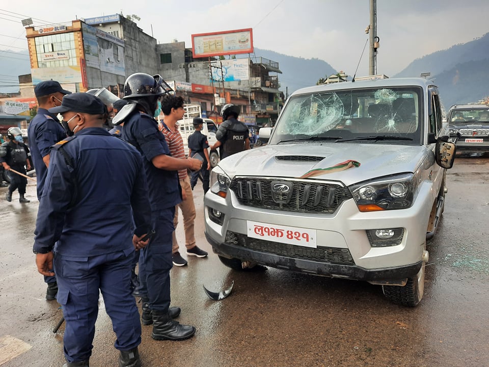
[[349, 187], [360, 212], [409, 208], [418, 191], [417, 174], [404, 173]]

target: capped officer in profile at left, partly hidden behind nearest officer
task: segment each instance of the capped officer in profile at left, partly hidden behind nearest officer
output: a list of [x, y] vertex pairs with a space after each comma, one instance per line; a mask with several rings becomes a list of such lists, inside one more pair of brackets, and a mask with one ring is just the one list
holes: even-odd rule
[[[57, 115], [50, 113], [48, 109], [61, 106], [63, 97], [71, 94], [71, 92], [64, 90], [56, 81], [46, 81], [34, 87], [34, 94], [39, 107], [37, 115], [29, 123], [27, 134], [32, 162], [36, 170], [37, 199], [39, 200], [47, 176], [51, 146], [66, 138], [66, 132], [58, 121]], [[58, 292], [56, 278], [45, 276], [44, 282], [47, 283], [46, 299], [48, 301], [55, 300]]]

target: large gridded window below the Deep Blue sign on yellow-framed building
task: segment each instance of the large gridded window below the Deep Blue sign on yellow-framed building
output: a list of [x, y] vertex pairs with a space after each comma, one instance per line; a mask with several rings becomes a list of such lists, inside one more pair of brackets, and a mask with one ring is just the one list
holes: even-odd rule
[[37, 66], [75, 66], [75, 40], [73, 33], [58, 33], [36, 37]]

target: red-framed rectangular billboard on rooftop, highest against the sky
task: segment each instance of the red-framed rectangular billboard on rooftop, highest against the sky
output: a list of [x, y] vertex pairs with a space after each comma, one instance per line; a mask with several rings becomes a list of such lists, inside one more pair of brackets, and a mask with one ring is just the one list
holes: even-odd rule
[[242, 29], [192, 35], [192, 53], [195, 58], [252, 54], [253, 30]]

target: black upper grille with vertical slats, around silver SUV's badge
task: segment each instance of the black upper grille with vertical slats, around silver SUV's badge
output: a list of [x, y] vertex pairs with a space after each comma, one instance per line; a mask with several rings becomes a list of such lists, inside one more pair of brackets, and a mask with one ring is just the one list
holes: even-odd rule
[[[292, 193], [287, 199], [277, 200], [273, 192], [277, 182], [291, 186]], [[242, 205], [300, 213], [334, 213], [343, 201], [352, 197], [347, 188], [318, 180], [235, 177], [230, 188]]]

